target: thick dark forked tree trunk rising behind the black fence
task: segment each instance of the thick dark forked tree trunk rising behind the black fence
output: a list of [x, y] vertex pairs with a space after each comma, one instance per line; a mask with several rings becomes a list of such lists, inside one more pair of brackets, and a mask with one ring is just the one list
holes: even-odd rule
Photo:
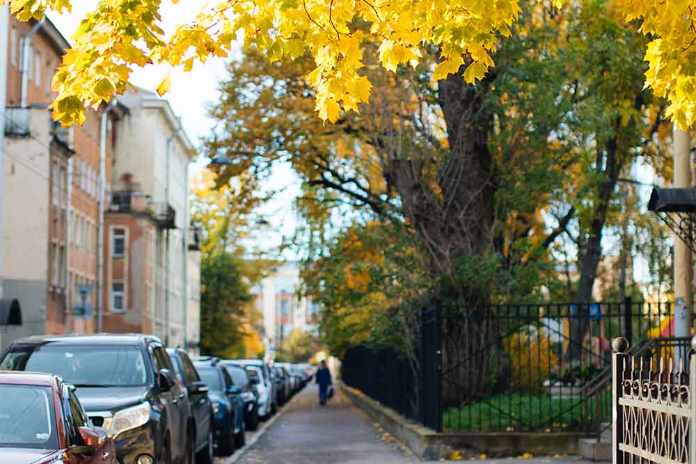
[[436, 298], [448, 308], [443, 311], [443, 401], [450, 406], [490, 386], [491, 353], [498, 338], [486, 317], [490, 296], [458, 287], [454, 279], [459, 259], [486, 259], [493, 246], [492, 117], [482, 108], [488, 90], [488, 81], [469, 85], [461, 73], [438, 82], [450, 146], [437, 178], [441, 194], [434, 191], [432, 178], [426, 179], [432, 162], [391, 157], [384, 168], [429, 251], [433, 280], [447, 287], [437, 289]]

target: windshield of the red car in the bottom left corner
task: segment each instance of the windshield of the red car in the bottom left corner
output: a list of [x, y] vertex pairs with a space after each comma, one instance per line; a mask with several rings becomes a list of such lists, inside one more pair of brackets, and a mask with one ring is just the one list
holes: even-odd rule
[[0, 447], [57, 449], [51, 390], [0, 385]]

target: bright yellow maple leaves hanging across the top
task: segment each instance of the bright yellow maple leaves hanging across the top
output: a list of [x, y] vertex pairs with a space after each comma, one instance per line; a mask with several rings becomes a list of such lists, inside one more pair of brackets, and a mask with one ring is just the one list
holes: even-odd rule
[[[45, 10], [70, 10], [71, 0], [0, 0], [21, 20]], [[84, 19], [54, 78], [54, 117], [65, 125], [84, 120], [85, 105], [98, 106], [125, 91], [134, 66], [168, 63], [190, 70], [196, 61], [228, 56], [240, 38], [270, 61], [309, 54], [306, 76], [322, 120], [335, 122], [370, 99], [372, 82], [361, 69], [370, 57], [383, 67], [416, 67], [437, 50], [433, 79], [473, 83], [495, 65], [493, 52], [519, 19], [518, 0], [219, 0], [171, 35], [161, 29], [162, 0], [102, 0]], [[174, 3], [177, 3], [175, 0]], [[198, 2], [189, 0], [194, 5]], [[564, 0], [539, 0], [553, 9]], [[682, 127], [696, 120], [696, 0], [616, 0], [616, 14], [649, 37], [647, 86], [667, 97], [667, 115]], [[365, 27], [367, 25], [367, 27]], [[461, 69], [464, 71], [461, 72]], [[159, 86], [166, 93], [169, 79]]]

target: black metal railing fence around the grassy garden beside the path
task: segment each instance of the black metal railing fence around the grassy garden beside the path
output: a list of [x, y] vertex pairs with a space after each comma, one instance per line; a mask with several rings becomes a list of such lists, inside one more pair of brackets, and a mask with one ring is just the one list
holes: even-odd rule
[[436, 310], [425, 314], [435, 317], [423, 326], [419, 362], [362, 347], [347, 353], [343, 378], [445, 431], [599, 432], [611, 420], [613, 338], [654, 360], [688, 350], [687, 339], [674, 339], [671, 303], [445, 308], [442, 321]]

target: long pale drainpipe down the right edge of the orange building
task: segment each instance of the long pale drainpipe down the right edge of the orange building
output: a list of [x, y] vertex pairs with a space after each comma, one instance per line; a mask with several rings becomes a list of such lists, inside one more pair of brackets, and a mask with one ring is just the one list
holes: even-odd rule
[[104, 197], [106, 196], [106, 129], [109, 127], [109, 113], [116, 106], [111, 100], [102, 112], [99, 137], [99, 222], [97, 223], [97, 333], [104, 332]]

